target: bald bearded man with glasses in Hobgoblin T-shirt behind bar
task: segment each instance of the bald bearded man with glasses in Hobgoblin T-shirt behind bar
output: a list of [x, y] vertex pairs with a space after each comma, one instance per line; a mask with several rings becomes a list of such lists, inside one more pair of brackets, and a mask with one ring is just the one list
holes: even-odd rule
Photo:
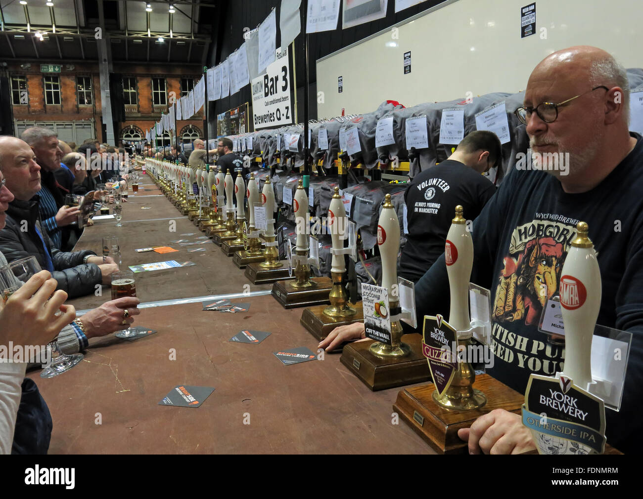
[[[633, 453], [643, 432], [643, 139], [628, 132], [628, 101], [626, 71], [601, 49], [564, 49], [536, 66], [517, 114], [527, 125], [528, 153], [540, 155], [537, 168], [518, 157], [473, 223], [471, 281], [491, 289], [489, 374], [524, 393], [530, 374], [563, 369], [565, 349], [538, 330], [539, 315], [559, 294], [576, 223], [588, 223], [601, 270], [597, 324], [632, 335], [620, 411], [606, 410], [606, 437]], [[415, 285], [417, 316], [446, 313], [448, 289], [442, 255]], [[320, 346], [360, 337], [363, 326], [344, 326]], [[458, 436], [470, 453], [534, 449], [520, 416], [502, 409]]]

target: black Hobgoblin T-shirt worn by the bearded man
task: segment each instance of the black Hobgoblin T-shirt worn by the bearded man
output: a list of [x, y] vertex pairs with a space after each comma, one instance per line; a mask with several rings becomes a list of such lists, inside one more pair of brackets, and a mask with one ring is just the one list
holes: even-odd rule
[[[491, 290], [495, 356], [487, 372], [524, 393], [532, 372], [563, 371], [565, 348], [538, 323], [547, 299], [559, 294], [576, 224], [588, 223], [601, 270], [597, 323], [632, 333], [620, 412], [605, 411], [607, 441], [626, 453], [638, 450], [643, 432], [643, 139], [631, 136], [635, 148], [588, 192], [566, 193], [544, 171], [511, 170], [473, 223], [471, 273]], [[444, 256], [415, 285], [415, 306], [418, 317], [448, 313]]]

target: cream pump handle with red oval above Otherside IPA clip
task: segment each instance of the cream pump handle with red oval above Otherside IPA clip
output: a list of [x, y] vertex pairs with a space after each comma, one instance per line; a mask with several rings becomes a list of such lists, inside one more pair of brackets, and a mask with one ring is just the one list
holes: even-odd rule
[[576, 230], [559, 286], [565, 324], [565, 367], [561, 374], [587, 390], [592, 383], [592, 337], [601, 308], [601, 270], [587, 223], [579, 222]]

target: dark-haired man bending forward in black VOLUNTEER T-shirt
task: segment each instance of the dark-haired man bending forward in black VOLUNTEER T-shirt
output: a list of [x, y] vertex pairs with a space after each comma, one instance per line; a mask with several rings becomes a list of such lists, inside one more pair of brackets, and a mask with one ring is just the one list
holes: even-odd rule
[[496, 188], [483, 177], [500, 162], [502, 145], [493, 132], [478, 130], [464, 137], [446, 161], [422, 171], [404, 192], [408, 235], [398, 275], [414, 283], [444, 253], [444, 241], [458, 204], [473, 220]]

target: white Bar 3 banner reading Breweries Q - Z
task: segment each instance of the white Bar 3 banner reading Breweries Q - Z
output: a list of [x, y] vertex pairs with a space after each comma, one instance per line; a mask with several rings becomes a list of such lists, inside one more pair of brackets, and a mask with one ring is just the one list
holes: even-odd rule
[[255, 130], [291, 125], [293, 100], [288, 49], [277, 49], [276, 60], [264, 76], [252, 80], [252, 110]]

